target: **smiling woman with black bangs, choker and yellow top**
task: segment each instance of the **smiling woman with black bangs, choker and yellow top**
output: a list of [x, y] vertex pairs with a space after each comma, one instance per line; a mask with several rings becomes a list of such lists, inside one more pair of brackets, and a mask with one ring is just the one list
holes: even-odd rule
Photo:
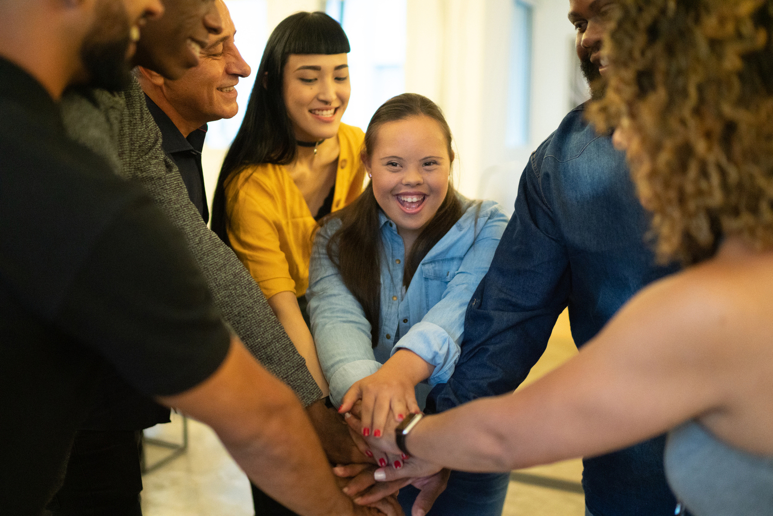
[[[363, 188], [364, 133], [341, 123], [347, 53], [346, 33], [324, 12], [297, 12], [271, 32], [212, 214], [213, 231], [261, 286], [325, 395], [305, 292], [316, 220]], [[256, 514], [293, 514], [254, 486], [253, 499]]]

